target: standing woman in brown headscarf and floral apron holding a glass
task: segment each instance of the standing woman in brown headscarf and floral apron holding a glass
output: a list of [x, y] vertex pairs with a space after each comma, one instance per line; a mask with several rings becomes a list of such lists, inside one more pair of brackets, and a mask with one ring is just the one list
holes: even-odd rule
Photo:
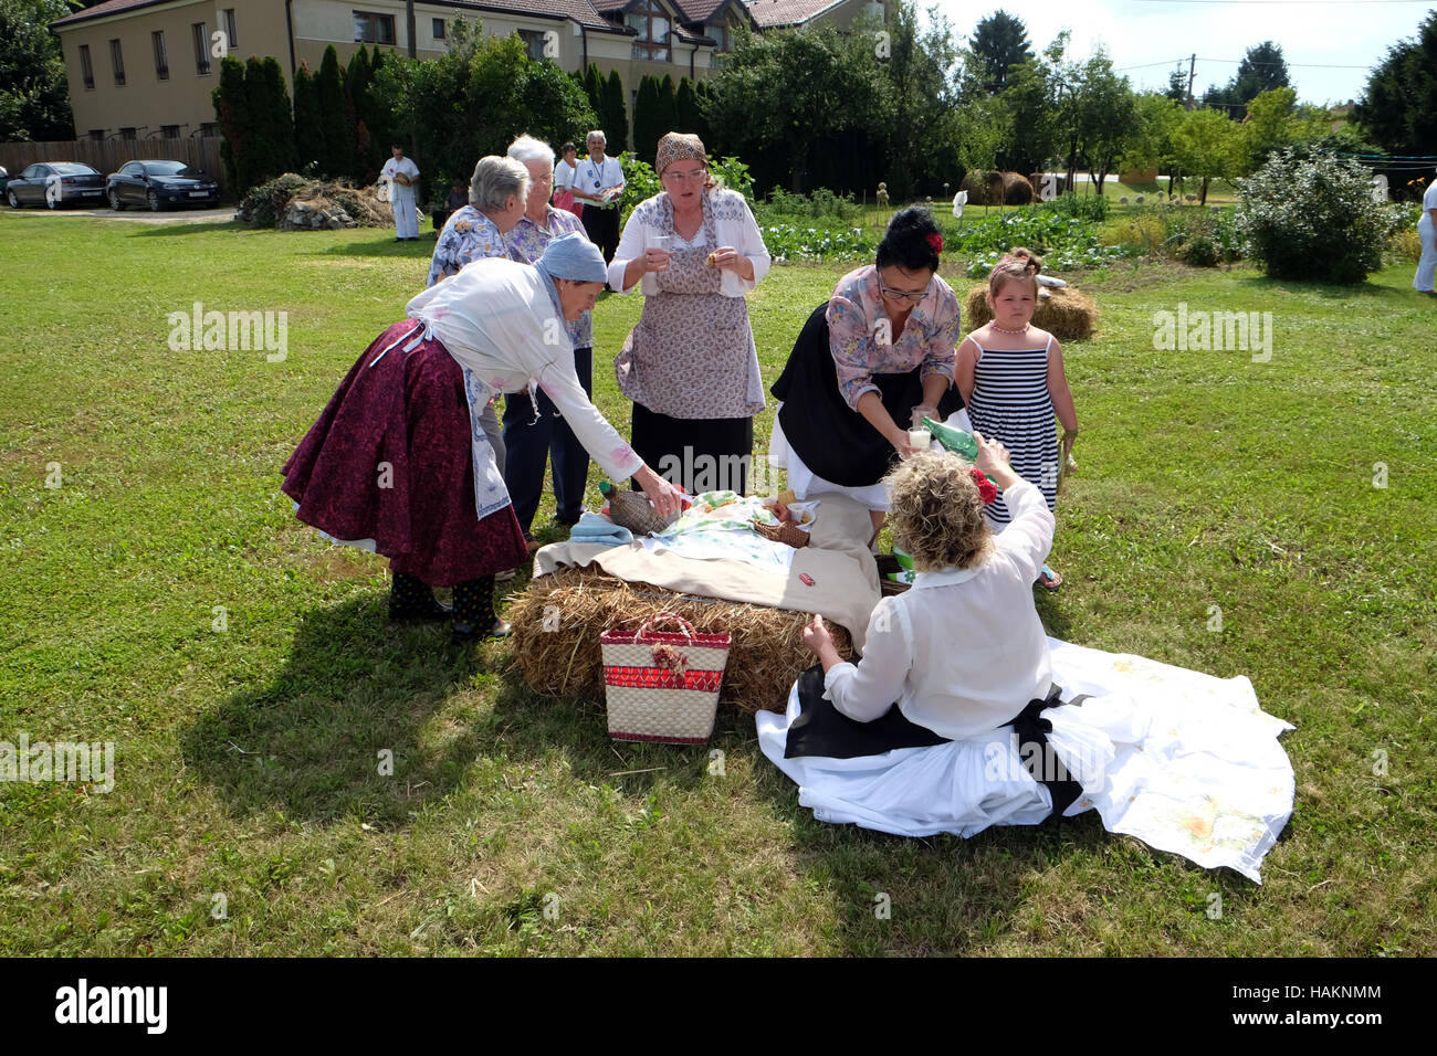
[[612, 289], [645, 293], [614, 363], [634, 450], [690, 493], [741, 493], [764, 407], [744, 295], [769, 250], [743, 195], [710, 178], [697, 135], [660, 139], [654, 168], [664, 190], [634, 208], [609, 264]]

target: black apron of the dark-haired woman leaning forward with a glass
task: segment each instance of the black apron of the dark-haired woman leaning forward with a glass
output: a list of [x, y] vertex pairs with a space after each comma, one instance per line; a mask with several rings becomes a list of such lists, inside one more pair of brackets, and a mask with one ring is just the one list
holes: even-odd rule
[[[868, 420], [848, 405], [828, 343], [828, 302], [803, 323], [783, 374], [769, 389], [783, 401], [779, 424], [793, 453], [809, 470], [842, 487], [877, 484], [898, 463], [898, 453]], [[874, 385], [892, 420], [908, 428], [923, 404], [923, 365], [907, 374], [875, 374]], [[938, 420], [963, 408], [957, 385], [938, 401]]]

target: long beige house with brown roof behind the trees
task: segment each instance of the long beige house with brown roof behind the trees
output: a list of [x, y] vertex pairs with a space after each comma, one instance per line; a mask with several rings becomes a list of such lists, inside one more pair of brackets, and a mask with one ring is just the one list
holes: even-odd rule
[[[655, 73], [704, 78], [731, 50], [733, 27], [841, 27], [875, 0], [491, 0], [414, 3], [412, 34], [402, 0], [106, 0], [50, 23], [65, 53], [75, 129], [91, 139], [218, 135], [211, 92], [220, 56], [273, 55], [292, 79], [319, 69], [331, 45], [348, 62], [361, 45], [421, 57], [447, 46], [457, 17], [484, 33], [519, 33], [530, 55], [560, 69], [618, 70], [632, 101]], [[293, 82], [289, 85], [293, 92]]]

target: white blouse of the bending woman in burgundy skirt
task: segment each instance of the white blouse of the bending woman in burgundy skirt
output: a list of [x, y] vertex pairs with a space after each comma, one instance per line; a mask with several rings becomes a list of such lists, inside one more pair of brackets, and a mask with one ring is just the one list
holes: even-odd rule
[[422, 319], [461, 366], [494, 392], [522, 392], [530, 378], [553, 401], [573, 435], [609, 477], [622, 481], [644, 466], [634, 448], [589, 401], [573, 372], [569, 329], [529, 264], [483, 257], [430, 286], [407, 313]]

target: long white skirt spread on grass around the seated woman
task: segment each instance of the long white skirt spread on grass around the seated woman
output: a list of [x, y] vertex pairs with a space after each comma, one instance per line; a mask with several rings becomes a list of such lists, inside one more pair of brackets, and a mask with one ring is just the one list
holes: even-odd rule
[[[1094, 809], [1109, 832], [1260, 884], [1262, 859], [1292, 816], [1292, 763], [1277, 736], [1293, 727], [1257, 705], [1247, 678], [1048, 642], [1063, 698], [1091, 694], [1081, 707], [1043, 711], [1053, 753], [1083, 787], [1065, 813]], [[785, 759], [798, 715], [795, 685], [783, 715], [757, 714], [759, 744], [821, 822], [966, 838], [1052, 813], [1009, 727], [861, 759]]]

